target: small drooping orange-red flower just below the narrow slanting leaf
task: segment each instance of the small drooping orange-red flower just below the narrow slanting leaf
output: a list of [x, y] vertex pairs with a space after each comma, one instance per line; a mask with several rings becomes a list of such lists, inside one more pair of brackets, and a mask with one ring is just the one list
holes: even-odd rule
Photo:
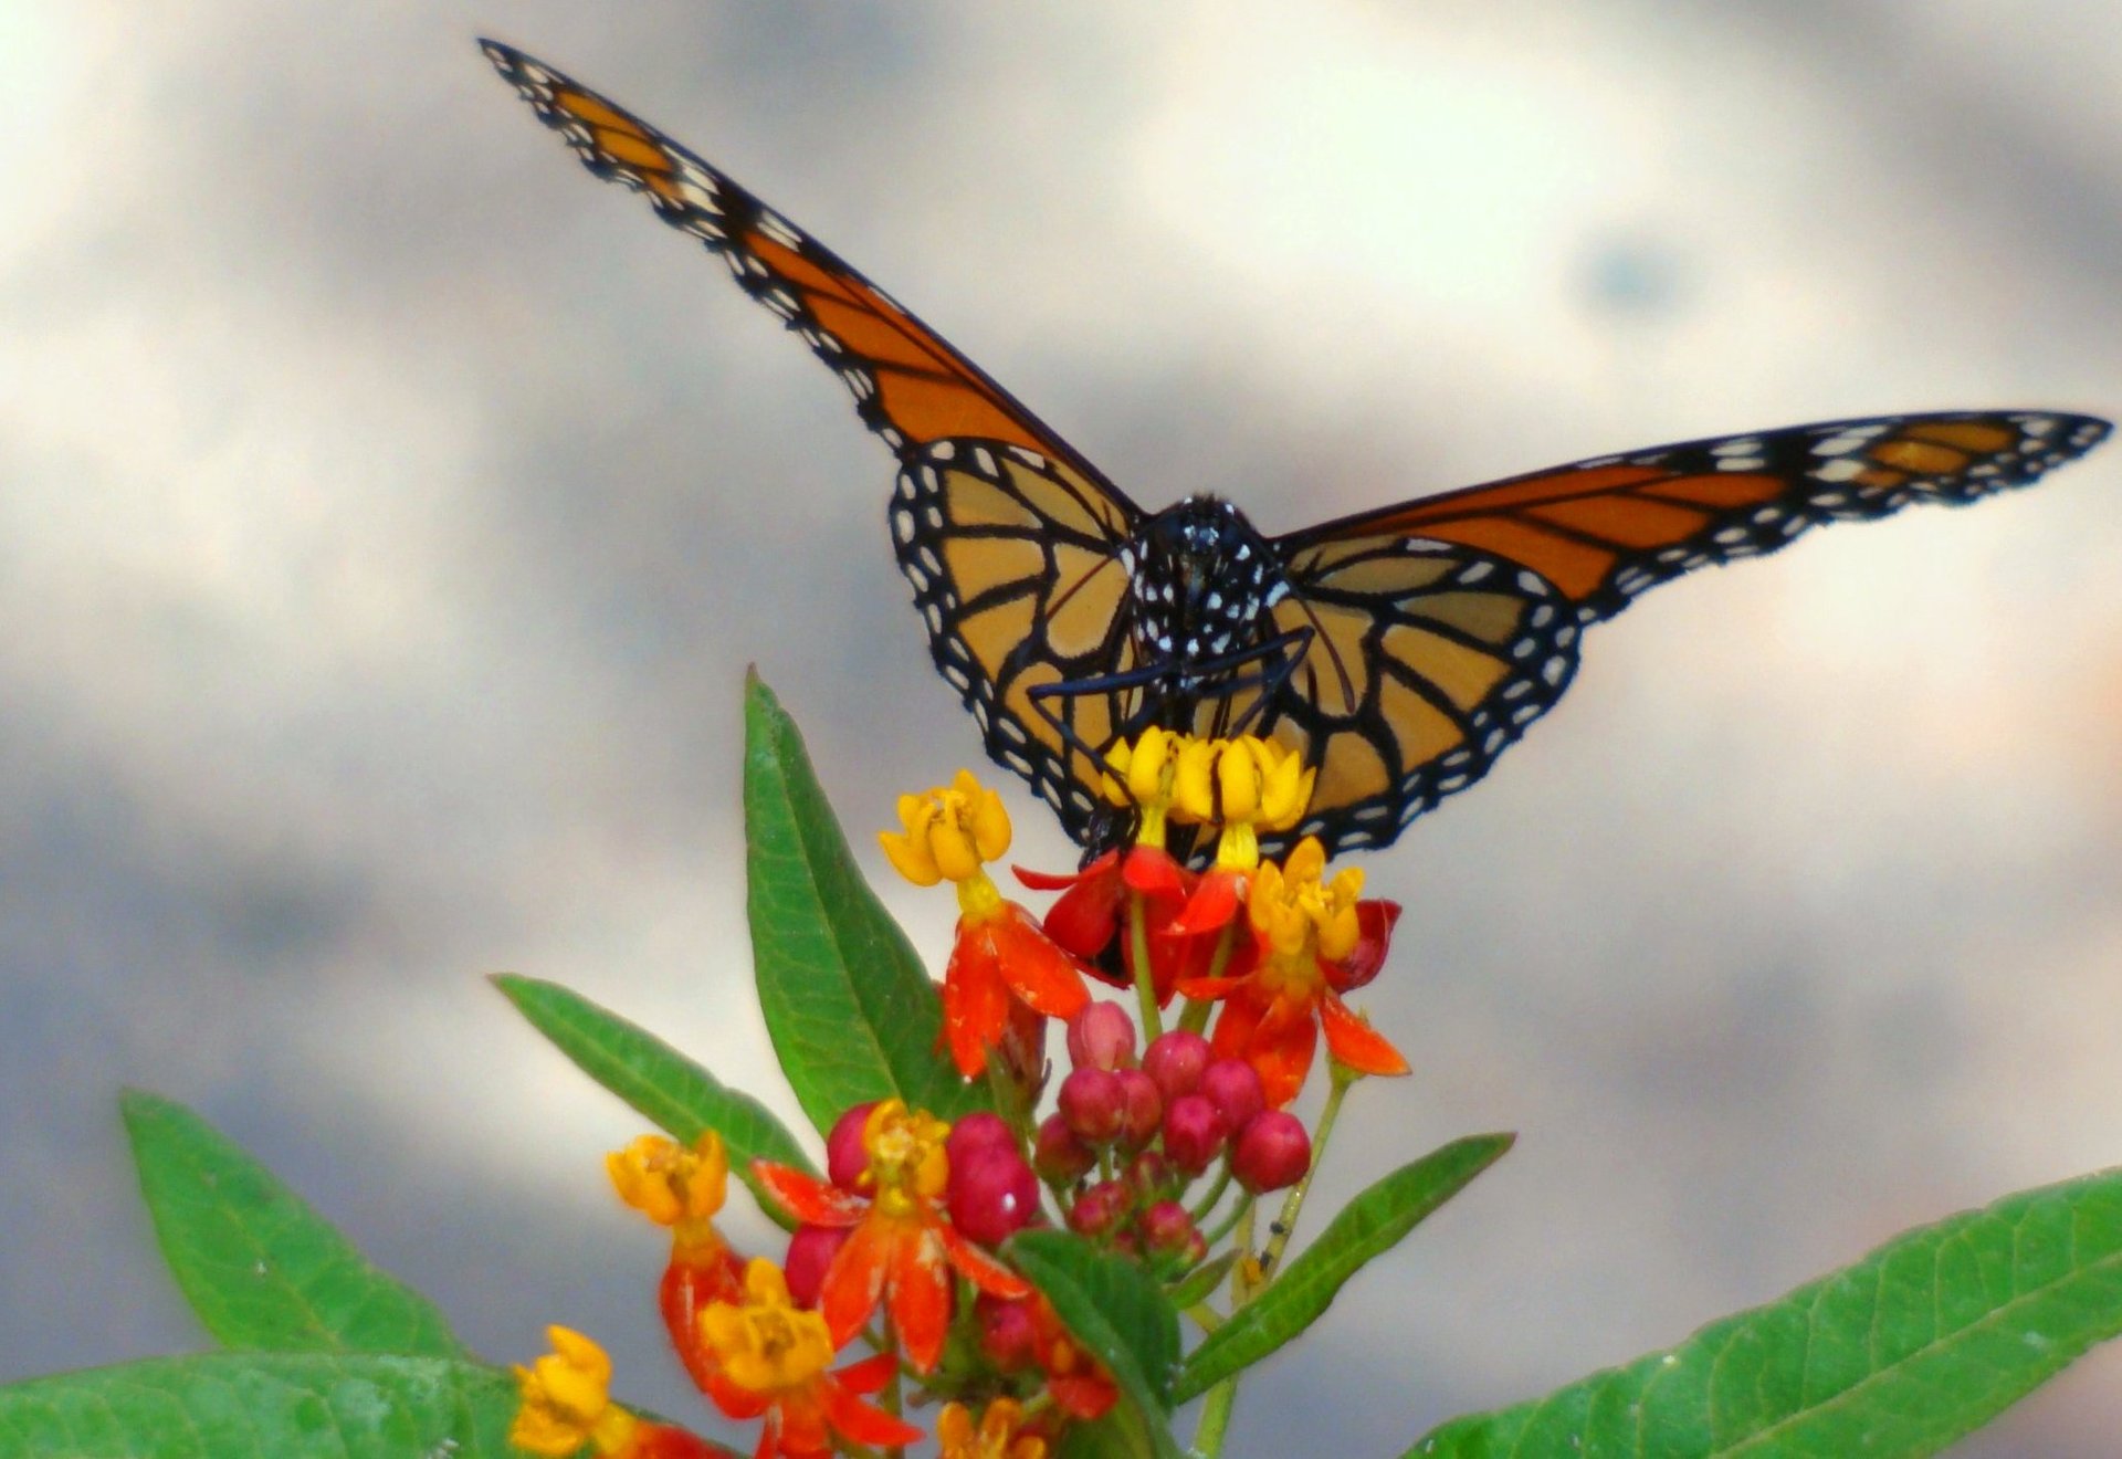
[[605, 1156], [605, 1173], [620, 1200], [671, 1228], [671, 1264], [656, 1300], [679, 1361], [694, 1383], [707, 1387], [715, 1364], [700, 1344], [700, 1313], [711, 1302], [734, 1302], [745, 1272], [713, 1219], [730, 1188], [721, 1137], [707, 1130], [692, 1149], [683, 1149], [662, 1135], [643, 1135]]

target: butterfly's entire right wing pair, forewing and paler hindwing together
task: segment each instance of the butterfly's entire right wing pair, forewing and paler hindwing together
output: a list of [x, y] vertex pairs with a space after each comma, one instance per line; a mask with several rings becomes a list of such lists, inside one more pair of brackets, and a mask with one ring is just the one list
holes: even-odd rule
[[1479, 780], [1568, 685], [1577, 630], [1819, 522], [1969, 503], [2099, 445], [2090, 416], [1959, 411], [1602, 456], [1277, 541], [1282, 630], [1309, 626], [1277, 734], [1320, 766], [1311, 823], [1381, 846]]

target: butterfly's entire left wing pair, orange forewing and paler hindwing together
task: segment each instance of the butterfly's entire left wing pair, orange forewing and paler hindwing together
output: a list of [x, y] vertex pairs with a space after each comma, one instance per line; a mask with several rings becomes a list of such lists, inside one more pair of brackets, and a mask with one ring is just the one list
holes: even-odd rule
[[855, 397], [900, 456], [893, 551], [929, 653], [980, 723], [987, 753], [1025, 776], [1078, 840], [1095, 814], [1103, 744], [1133, 691], [1033, 702], [1031, 689], [1133, 666], [1120, 558], [1142, 511], [1067, 441], [876, 284], [692, 151], [554, 68], [482, 40], [494, 68], [584, 165], [728, 261]]

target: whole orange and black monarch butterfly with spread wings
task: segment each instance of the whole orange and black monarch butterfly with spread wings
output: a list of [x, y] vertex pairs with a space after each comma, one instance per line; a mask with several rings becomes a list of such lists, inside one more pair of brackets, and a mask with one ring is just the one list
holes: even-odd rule
[[1286, 537], [1231, 503], [1150, 513], [1008, 390], [724, 172], [522, 51], [482, 47], [601, 178], [721, 254], [900, 460], [891, 541], [987, 753], [1086, 852], [1125, 829], [1101, 755], [1148, 723], [1256, 730], [1318, 768], [1286, 838], [1390, 844], [1577, 672], [1585, 626], [1819, 522], [1961, 505], [2073, 460], [2058, 411], [1836, 420], [1600, 456]]

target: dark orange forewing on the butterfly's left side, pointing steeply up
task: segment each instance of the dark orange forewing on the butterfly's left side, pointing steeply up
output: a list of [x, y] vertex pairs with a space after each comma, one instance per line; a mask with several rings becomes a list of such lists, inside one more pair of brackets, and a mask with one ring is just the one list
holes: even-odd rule
[[927, 324], [726, 172], [522, 51], [499, 40], [480, 47], [590, 172], [643, 193], [656, 216], [719, 254], [747, 295], [802, 335], [891, 450], [906, 456], [940, 439], [982, 437], [1097, 475]]

